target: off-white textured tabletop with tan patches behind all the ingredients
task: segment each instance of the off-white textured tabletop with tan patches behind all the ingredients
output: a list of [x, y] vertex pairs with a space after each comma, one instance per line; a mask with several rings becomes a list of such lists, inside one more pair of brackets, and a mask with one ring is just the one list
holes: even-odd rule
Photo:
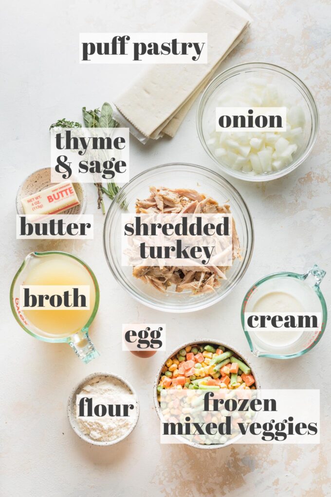
[[[314, 151], [289, 176], [269, 183], [230, 178], [251, 209], [256, 245], [240, 285], [223, 302], [191, 315], [158, 314], [138, 305], [113, 279], [102, 249], [103, 216], [89, 187], [94, 241], [61, 243], [15, 240], [15, 195], [20, 181], [49, 165], [49, 133], [58, 118], [80, 119], [80, 108], [111, 100], [137, 69], [79, 65], [80, 31], [175, 31], [198, 0], [12, 0], [2, 11], [1, 64], [1, 426], [3, 496], [327, 496], [330, 475], [330, 325], [316, 348], [286, 362], [251, 357], [266, 388], [321, 388], [322, 443], [315, 446], [237, 445], [218, 451], [159, 444], [152, 402], [156, 369], [166, 353], [148, 360], [121, 350], [123, 322], [166, 322], [168, 350], [197, 335], [219, 337], [249, 354], [240, 305], [249, 286], [278, 270], [303, 272], [317, 262], [330, 302], [330, 32], [327, 0], [257, 0], [249, 34], [222, 64], [279, 64], [312, 89], [321, 114]], [[196, 105], [173, 140], [143, 147], [132, 139], [132, 175], [148, 167], [184, 161], [214, 167], [200, 146]], [[185, 186], [185, 185], [183, 185]], [[101, 305], [92, 338], [101, 356], [85, 366], [65, 344], [25, 334], [11, 316], [8, 290], [24, 256], [58, 248], [82, 257], [95, 271]], [[94, 371], [122, 374], [138, 391], [138, 426], [118, 446], [81, 441], [66, 418], [74, 384]], [[329, 397], [330, 398], [330, 397]]]

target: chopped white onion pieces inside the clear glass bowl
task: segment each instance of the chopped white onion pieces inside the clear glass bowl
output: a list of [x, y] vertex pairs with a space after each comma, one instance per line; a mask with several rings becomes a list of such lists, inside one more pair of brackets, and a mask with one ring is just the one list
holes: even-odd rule
[[[295, 159], [302, 145], [305, 114], [299, 105], [290, 105], [281, 88], [264, 78], [250, 77], [217, 95], [217, 105], [228, 107], [286, 107], [286, 131], [236, 131], [209, 134], [207, 146], [215, 158], [250, 175], [279, 171]], [[214, 116], [212, 116], [214, 120]], [[209, 128], [210, 129], [210, 128]]]

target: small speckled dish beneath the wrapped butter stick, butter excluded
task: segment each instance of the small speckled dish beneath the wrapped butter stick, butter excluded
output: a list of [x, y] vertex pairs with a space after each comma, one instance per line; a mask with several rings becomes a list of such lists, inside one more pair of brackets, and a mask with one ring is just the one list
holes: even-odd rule
[[[87, 204], [85, 188], [82, 183], [75, 182], [75, 178], [70, 178], [70, 181], [74, 184], [74, 189], [80, 204], [75, 207], [71, 207], [71, 209], [68, 209], [65, 212], [66, 214], [84, 214]], [[38, 191], [45, 190], [53, 184], [57, 183], [51, 182], [51, 167], [43, 167], [42, 169], [38, 169], [25, 178], [23, 183], [20, 184], [16, 194], [17, 214], [24, 214], [21, 202], [22, 198], [33, 195]]]

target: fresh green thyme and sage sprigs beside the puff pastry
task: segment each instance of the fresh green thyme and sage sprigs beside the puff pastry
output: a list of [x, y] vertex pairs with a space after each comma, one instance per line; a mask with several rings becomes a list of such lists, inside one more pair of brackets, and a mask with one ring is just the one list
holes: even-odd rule
[[[83, 122], [86, 128], [116, 128], [118, 123], [113, 119], [113, 109], [112, 106], [105, 102], [101, 107], [94, 110], [86, 110], [86, 107], [82, 108]], [[52, 128], [81, 128], [81, 124], [74, 121], [68, 121], [67, 119], [59, 119], [56, 123], [50, 126]], [[107, 188], [105, 188], [102, 183], [94, 183], [98, 191], [98, 209], [102, 209], [103, 214], [105, 214], [105, 205], [103, 202], [103, 194], [107, 195], [111, 200], [114, 199], [115, 195], [120, 191], [120, 187], [114, 183], [107, 183]], [[121, 204], [124, 207], [124, 203]]]

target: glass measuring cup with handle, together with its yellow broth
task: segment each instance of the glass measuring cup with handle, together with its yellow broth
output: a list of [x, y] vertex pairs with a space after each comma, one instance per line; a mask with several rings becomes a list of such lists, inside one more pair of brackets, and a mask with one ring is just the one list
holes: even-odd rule
[[[44, 264], [44, 266], [41, 266], [41, 264]], [[49, 281], [50, 278], [55, 278], [55, 282], [40, 283], [40, 281], [33, 281], [33, 278], [38, 278], [37, 275], [40, 274], [48, 278]], [[72, 311], [68, 309], [63, 311], [38, 311], [38, 309], [26, 311], [21, 309], [21, 285], [78, 285], [83, 284], [83, 282], [84, 284], [89, 284], [90, 286], [90, 301], [92, 305], [91, 309], [88, 311]], [[68, 343], [78, 357], [85, 363], [88, 363], [90, 360], [99, 356], [99, 352], [95, 349], [88, 335], [88, 329], [94, 320], [99, 307], [99, 300], [99, 285], [93, 271], [78, 257], [60, 251], [29, 253], [15, 274], [10, 287], [11, 310], [16, 321], [23, 328], [23, 330], [35, 338], [38, 338], [38, 340], [53, 343]], [[66, 314], [55, 314], [60, 312]], [[72, 314], [74, 312], [76, 312], [76, 314]], [[37, 315], [37, 320], [36, 314], [33, 313], [39, 313], [39, 315]], [[58, 328], [58, 325], [55, 323], [59, 321], [59, 319], [61, 324]], [[44, 323], [44, 326], [42, 323]], [[75, 328], [75, 325], [78, 325], [78, 328]], [[54, 330], [50, 331], [49, 327], [53, 327]]]

